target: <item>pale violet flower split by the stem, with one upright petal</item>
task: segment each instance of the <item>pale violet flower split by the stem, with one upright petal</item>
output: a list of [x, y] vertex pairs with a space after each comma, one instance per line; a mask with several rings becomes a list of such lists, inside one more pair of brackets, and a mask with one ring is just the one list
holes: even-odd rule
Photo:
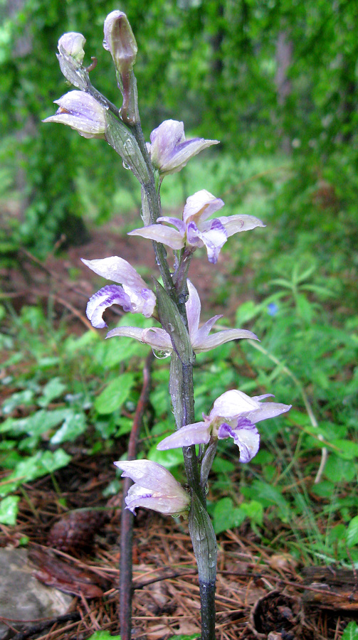
[[[210, 320], [207, 320], [203, 326], [199, 327], [201, 310], [199, 294], [196, 291], [194, 284], [191, 284], [190, 280], [187, 280], [186, 282], [189, 290], [189, 298], [185, 304], [186, 316], [188, 318], [191, 346], [196, 353], [209, 351], [216, 346], [220, 346], [221, 344], [225, 344], [231, 340], [238, 340], [239, 338], [251, 338], [251, 340], [258, 340], [258, 337], [255, 334], [251, 331], [246, 331], [246, 329], [223, 329], [223, 331], [218, 331], [218, 333], [209, 336], [214, 324], [222, 316], [214, 316]], [[140, 329], [140, 327], [137, 326], [120, 326], [117, 329], [108, 331], [106, 337], [112, 338], [113, 336], [136, 338], [139, 342], [149, 344], [152, 348], [166, 353], [170, 353], [173, 348], [169, 334], [160, 327]]]

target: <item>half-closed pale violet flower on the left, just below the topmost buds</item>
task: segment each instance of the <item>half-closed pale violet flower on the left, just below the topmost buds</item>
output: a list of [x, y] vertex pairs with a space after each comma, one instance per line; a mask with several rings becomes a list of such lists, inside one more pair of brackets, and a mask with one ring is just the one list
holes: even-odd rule
[[84, 138], [105, 137], [106, 110], [92, 95], [83, 91], [69, 91], [54, 102], [58, 105], [56, 114], [42, 122], [68, 124]]

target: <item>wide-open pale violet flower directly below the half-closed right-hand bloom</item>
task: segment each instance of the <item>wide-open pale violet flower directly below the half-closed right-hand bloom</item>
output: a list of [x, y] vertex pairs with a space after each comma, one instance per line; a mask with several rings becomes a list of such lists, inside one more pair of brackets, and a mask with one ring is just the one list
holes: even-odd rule
[[265, 226], [253, 215], [230, 215], [208, 220], [209, 215], [221, 207], [221, 198], [215, 198], [209, 191], [202, 189], [186, 200], [182, 220], [162, 216], [157, 219], [155, 225], [135, 229], [128, 235], [140, 235], [142, 238], [156, 240], [172, 249], [181, 249], [184, 246], [194, 249], [205, 245], [209, 262], [215, 264], [221, 248], [231, 235]]

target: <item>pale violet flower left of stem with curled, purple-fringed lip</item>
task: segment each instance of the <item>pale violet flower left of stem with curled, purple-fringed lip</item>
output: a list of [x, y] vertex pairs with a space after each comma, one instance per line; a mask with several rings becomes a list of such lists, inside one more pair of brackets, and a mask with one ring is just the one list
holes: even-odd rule
[[154, 293], [147, 289], [147, 284], [127, 260], [112, 255], [102, 260], [82, 258], [82, 262], [103, 278], [122, 284], [122, 287], [108, 284], [90, 298], [86, 314], [93, 326], [97, 329], [107, 326], [102, 314], [112, 304], [120, 304], [125, 311], [143, 314], [146, 318], [152, 316], [156, 304]]

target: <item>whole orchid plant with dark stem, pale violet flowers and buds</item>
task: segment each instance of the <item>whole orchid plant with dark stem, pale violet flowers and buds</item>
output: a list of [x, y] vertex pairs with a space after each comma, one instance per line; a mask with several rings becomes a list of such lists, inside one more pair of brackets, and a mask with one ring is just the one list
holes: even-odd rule
[[[201, 324], [201, 302], [194, 284], [188, 279], [188, 272], [196, 250], [205, 247], [209, 262], [215, 265], [221, 248], [231, 235], [265, 225], [253, 215], [212, 218], [224, 203], [206, 190], [187, 199], [181, 218], [162, 215], [160, 186], [163, 179], [180, 171], [203, 149], [219, 143], [202, 138], [186, 139], [182, 122], [166, 120], [154, 129], [146, 144], [133, 72], [137, 44], [127, 16], [122, 11], [112, 11], [105, 19], [104, 31], [103, 44], [112, 55], [122, 93], [121, 109], [91, 84], [89, 73], [97, 61], [93, 58], [90, 67], [83, 66], [84, 36], [65, 33], [58, 42], [58, 61], [66, 80], [76, 89], [56, 100], [56, 114], [43, 122], [67, 124], [84, 137], [105, 139], [142, 186], [144, 226], [132, 230], [130, 235], [152, 240], [162, 284], [154, 281], [155, 292], [152, 291], [135, 268], [118, 256], [83, 260], [96, 274], [115, 283], [105, 285], [90, 298], [87, 315], [98, 329], [107, 326], [103, 313], [113, 304], [120, 305], [124, 311], [152, 318], [157, 324], [150, 328], [120, 326], [111, 329], [106, 337], [135, 338], [154, 351], [170, 356], [169, 391], [177, 431], [159, 442], [157, 448], [182, 447], [186, 486], [181, 486], [162, 465], [149, 460], [120, 461], [115, 465], [122, 469], [122, 476], [134, 482], [125, 497], [126, 508], [132, 513], [136, 508], [144, 507], [165, 515], [180, 514], [188, 518], [199, 573], [201, 640], [214, 640], [216, 537], [206, 510], [206, 491], [217, 443], [219, 439], [233, 438], [239, 449], [238, 462], [250, 462], [260, 444], [256, 424], [287, 412], [290, 405], [263, 402], [271, 394], [250, 398], [240, 390], [228, 390], [215, 400], [203, 420], [195, 421], [195, 354], [231, 340], [258, 338], [243, 329], [224, 329], [210, 334], [221, 316]], [[165, 247], [174, 252], [172, 267]], [[196, 445], [199, 445], [198, 449]], [[129, 638], [130, 629], [122, 629], [122, 640]]]

